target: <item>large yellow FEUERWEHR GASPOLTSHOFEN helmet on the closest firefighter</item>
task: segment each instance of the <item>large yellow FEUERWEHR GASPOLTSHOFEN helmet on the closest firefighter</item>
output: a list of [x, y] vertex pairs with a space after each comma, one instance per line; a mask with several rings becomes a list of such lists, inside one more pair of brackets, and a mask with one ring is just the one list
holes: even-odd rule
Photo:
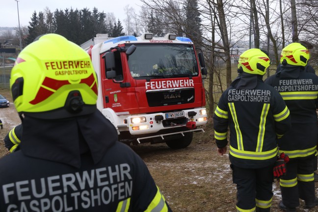
[[29, 44], [11, 71], [10, 89], [19, 114], [60, 119], [96, 110], [97, 77], [90, 57], [61, 35]]

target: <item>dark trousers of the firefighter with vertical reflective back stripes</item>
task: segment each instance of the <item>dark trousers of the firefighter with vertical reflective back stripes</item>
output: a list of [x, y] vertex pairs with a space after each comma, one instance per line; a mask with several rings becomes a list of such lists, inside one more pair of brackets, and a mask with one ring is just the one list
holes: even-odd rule
[[269, 212], [272, 202], [273, 165], [259, 169], [240, 168], [232, 164], [233, 183], [237, 184], [238, 212]]

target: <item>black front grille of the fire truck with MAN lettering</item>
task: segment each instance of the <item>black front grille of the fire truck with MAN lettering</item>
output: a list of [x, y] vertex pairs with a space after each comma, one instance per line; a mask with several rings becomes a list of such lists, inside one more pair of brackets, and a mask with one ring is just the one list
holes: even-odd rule
[[148, 90], [146, 96], [150, 107], [193, 103], [195, 98], [194, 88]]

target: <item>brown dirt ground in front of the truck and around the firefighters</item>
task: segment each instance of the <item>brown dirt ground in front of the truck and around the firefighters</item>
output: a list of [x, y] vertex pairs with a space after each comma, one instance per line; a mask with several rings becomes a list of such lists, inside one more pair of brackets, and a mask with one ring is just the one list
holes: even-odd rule
[[[3, 138], [14, 126], [21, 123], [8, 90], [0, 88], [10, 107], [0, 108], [4, 129], [0, 130], [0, 157], [9, 154]], [[132, 149], [146, 162], [157, 185], [174, 212], [234, 212], [236, 211], [236, 185], [228, 155], [219, 156], [212, 140], [211, 126], [205, 133], [194, 133], [189, 147], [172, 150], [165, 144], [142, 144]], [[280, 212], [281, 200], [278, 182], [273, 184], [272, 212]], [[316, 184], [318, 187], [318, 184]], [[304, 209], [301, 202], [298, 212], [318, 212]]]

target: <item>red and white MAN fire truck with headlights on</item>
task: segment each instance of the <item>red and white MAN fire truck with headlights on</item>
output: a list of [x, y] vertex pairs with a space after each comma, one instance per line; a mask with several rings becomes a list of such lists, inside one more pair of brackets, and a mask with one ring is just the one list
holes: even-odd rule
[[189, 38], [144, 33], [82, 44], [99, 79], [97, 107], [126, 143], [188, 146], [207, 123], [202, 52]]

